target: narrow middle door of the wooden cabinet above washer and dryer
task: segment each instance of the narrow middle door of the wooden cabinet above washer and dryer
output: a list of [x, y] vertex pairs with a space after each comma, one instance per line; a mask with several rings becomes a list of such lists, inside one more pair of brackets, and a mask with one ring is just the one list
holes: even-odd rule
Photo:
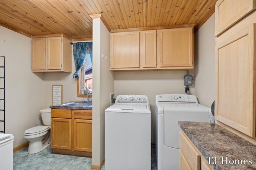
[[140, 31], [140, 61], [142, 69], [156, 68], [156, 30]]

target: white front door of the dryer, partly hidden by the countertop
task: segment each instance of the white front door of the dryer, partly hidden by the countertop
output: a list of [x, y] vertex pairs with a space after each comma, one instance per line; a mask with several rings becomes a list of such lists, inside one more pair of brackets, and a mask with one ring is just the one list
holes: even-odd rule
[[164, 108], [164, 145], [179, 149], [178, 121], [209, 122], [209, 110], [206, 108], [165, 107]]

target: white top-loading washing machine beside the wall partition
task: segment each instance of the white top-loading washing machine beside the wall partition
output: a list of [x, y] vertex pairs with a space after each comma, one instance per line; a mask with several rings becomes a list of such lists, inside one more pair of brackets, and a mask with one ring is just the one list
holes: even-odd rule
[[105, 110], [105, 170], [151, 170], [151, 111], [144, 95], [119, 95]]

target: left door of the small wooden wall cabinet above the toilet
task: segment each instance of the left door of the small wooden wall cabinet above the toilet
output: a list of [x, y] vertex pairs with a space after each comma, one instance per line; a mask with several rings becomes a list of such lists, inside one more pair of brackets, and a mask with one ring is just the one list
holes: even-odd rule
[[45, 70], [46, 38], [32, 39], [32, 70]]

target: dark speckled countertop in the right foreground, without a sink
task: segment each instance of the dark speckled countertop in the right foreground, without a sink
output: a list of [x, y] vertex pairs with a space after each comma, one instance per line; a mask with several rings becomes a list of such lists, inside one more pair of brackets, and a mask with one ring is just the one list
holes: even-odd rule
[[256, 170], [256, 145], [215, 123], [179, 121], [179, 126], [206, 160], [214, 158], [215, 170]]

